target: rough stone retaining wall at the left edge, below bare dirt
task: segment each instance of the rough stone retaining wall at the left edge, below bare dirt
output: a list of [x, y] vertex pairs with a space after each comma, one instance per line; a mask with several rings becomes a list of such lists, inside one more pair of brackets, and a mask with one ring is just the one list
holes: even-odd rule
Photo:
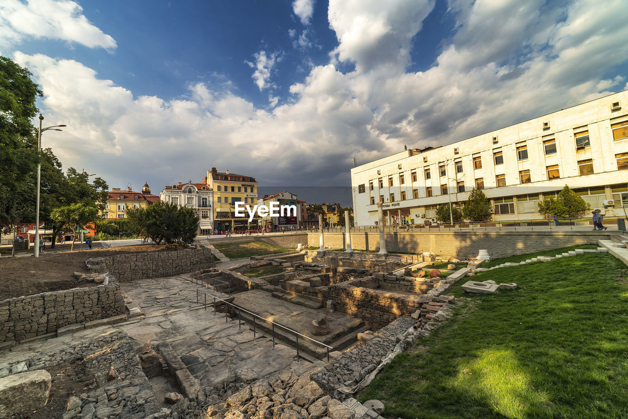
[[53, 291], [0, 302], [0, 342], [56, 332], [63, 326], [124, 314], [119, 283]]

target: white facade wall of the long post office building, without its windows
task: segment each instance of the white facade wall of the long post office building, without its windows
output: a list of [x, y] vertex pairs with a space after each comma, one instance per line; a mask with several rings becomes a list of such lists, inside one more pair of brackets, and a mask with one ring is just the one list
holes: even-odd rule
[[[620, 109], [612, 110], [615, 102], [619, 102]], [[526, 205], [518, 205], [524, 199], [517, 199], [517, 195], [560, 191], [565, 184], [573, 189], [594, 188], [590, 193], [597, 193], [600, 197], [584, 197], [593, 208], [602, 209], [606, 215], [623, 215], [621, 202], [615, 202], [615, 207], [602, 205], [607, 199], [621, 200], [619, 185], [624, 183], [626, 187], [628, 182], [628, 170], [618, 170], [615, 158], [619, 153], [628, 152], [628, 139], [615, 141], [610, 128], [611, 124], [620, 121], [628, 121], [628, 90], [457, 143], [422, 152], [405, 150], [357, 166], [351, 170], [356, 224], [375, 223], [377, 205], [371, 203], [371, 197], [377, 202], [380, 195], [384, 195], [386, 224], [392, 224], [399, 215], [402, 219], [412, 220], [412, 224], [421, 224], [433, 214], [430, 205], [467, 200], [477, 178], [484, 179], [484, 193], [492, 201], [502, 197], [513, 199], [514, 213], [496, 214], [495, 220], [541, 218], [536, 210], [529, 212], [535, 205], [527, 205], [527, 210], [524, 209]], [[544, 129], [544, 122], [548, 122], [549, 129]], [[574, 134], [582, 129], [588, 129], [590, 146], [577, 150]], [[497, 137], [496, 143], [494, 137]], [[543, 141], [550, 138], [556, 140], [556, 153], [546, 155]], [[518, 160], [516, 148], [522, 145], [527, 147], [528, 158]], [[494, 161], [494, 152], [498, 150], [502, 151], [504, 158], [501, 165], [495, 165]], [[477, 155], [481, 156], [482, 168], [474, 169], [473, 157]], [[593, 174], [581, 176], [578, 161], [588, 159], [593, 161]], [[455, 171], [457, 161], [462, 162], [462, 173]], [[445, 177], [440, 176], [440, 164], [446, 165]], [[548, 180], [546, 169], [552, 165], [558, 165], [560, 178]], [[426, 168], [431, 174], [428, 180], [425, 179]], [[530, 171], [531, 183], [520, 182], [519, 172], [522, 170]], [[414, 171], [416, 182], [412, 180]], [[404, 177], [404, 184], [401, 184], [400, 175]], [[497, 175], [506, 175], [505, 187], [497, 187]], [[390, 177], [393, 178], [393, 187], [389, 186]], [[380, 178], [384, 183], [381, 189]], [[457, 181], [464, 182], [466, 192], [456, 193]], [[369, 182], [373, 182], [373, 190], [370, 190]], [[364, 185], [364, 192], [360, 192], [360, 185]], [[442, 195], [441, 185], [447, 185], [450, 193]], [[432, 197], [426, 196], [428, 187], [432, 188]], [[418, 191], [418, 199], [413, 199], [413, 190]], [[628, 192], [628, 189], [623, 190]], [[401, 200], [401, 192], [406, 193], [406, 200]], [[394, 202], [390, 201], [391, 193], [394, 193]], [[421, 218], [421, 214], [425, 214], [425, 218]]]

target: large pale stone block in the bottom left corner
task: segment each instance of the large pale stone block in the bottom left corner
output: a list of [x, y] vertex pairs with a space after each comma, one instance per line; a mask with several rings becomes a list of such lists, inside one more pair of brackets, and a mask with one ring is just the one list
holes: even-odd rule
[[0, 378], [0, 417], [42, 408], [50, 395], [50, 374], [43, 369]]

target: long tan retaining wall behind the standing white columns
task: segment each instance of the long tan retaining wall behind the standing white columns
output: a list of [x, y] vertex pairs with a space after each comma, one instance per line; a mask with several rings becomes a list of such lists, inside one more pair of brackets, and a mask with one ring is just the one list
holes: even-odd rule
[[[325, 233], [325, 246], [344, 248], [344, 233]], [[597, 243], [609, 239], [605, 234], [588, 231], [452, 231], [452, 232], [395, 232], [386, 233], [386, 250], [420, 254], [431, 252], [458, 258], [475, 258], [480, 249], [488, 249], [492, 258], [506, 258], [562, 248], [573, 244]], [[319, 234], [308, 233], [309, 246], [318, 246]], [[351, 234], [355, 250], [379, 250], [379, 234], [359, 232]], [[374, 256], [375, 257], [375, 256]]]

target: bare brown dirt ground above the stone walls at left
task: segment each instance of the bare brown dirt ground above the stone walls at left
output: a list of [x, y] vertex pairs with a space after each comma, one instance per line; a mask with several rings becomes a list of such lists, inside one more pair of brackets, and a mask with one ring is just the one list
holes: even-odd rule
[[[187, 249], [187, 247], [170, 246], [166, 248], [165, 245], [145, 244], [111, 249], [41, 254], [39, 258], [0, 258], [0, 301], [22, 295], [76, 288], [79, 283], [73, 278], [72, 273], [87, 272], [85, 261], [90, 258], [178, 249]], [[80, 283], [80, 286], [90, 285], [94, 284]]]

